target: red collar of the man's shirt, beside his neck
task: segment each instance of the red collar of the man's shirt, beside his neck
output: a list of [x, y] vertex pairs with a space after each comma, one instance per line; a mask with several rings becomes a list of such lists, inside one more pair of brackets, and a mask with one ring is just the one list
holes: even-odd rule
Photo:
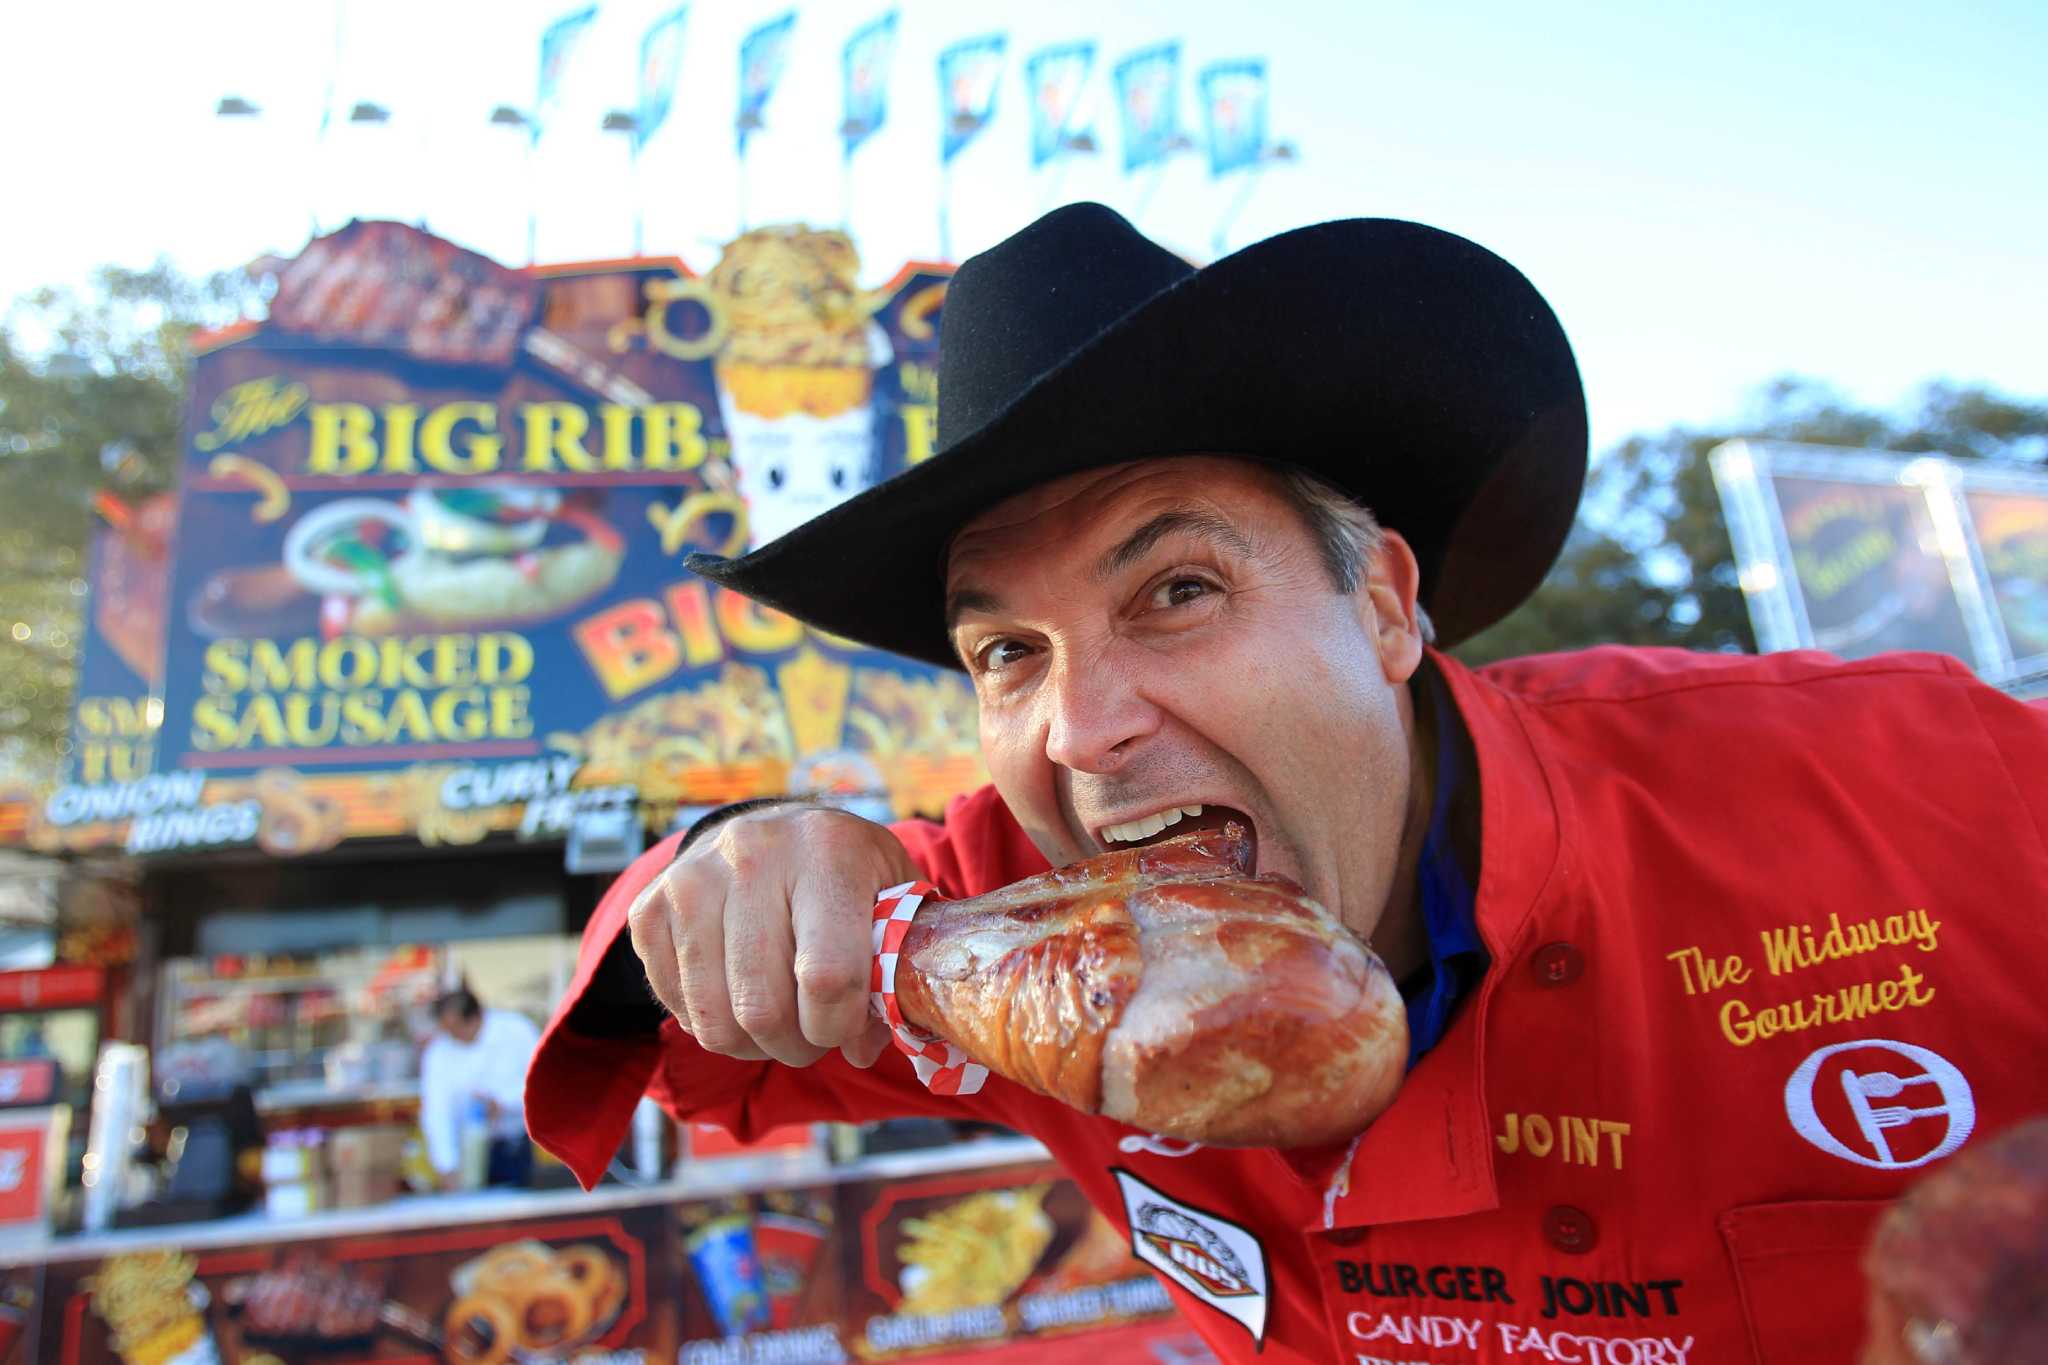
[[1430, 651], [1479, 761], [1481, 855], [1475, 925], [1493, 956], [1477, 999], [1409, 1072], [1401, 1097], [1358, 1136], [1313, 1228], [1456, 1218], [1499, 1207], [1485, 1099], [1487, 1011], [1516, 968], [1536, 902], [1567, 868], [1550, 778], [1520, 706], [1489, 679]]

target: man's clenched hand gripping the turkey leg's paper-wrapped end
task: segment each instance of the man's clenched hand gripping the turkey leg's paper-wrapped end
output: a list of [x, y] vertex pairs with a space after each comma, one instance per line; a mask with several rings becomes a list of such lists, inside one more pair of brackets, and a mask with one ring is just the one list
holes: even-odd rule
[[690, 845], [627, 927], [655, 997], [702, 1048], [784, 1066], [840, 1048], [872, 1066], [889, 1027], [868, 1015], [868, 911], [874, 892], [915, 876], [881, 825], [770, 806]]

